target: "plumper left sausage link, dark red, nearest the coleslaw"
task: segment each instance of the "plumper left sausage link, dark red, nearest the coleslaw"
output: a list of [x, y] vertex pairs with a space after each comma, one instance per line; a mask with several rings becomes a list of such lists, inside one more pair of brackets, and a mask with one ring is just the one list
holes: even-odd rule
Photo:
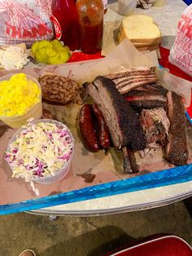
[[85, 147], [92, 152], [99, 151], [99, 143], [94, 129], [94, 123], [91, 114], [91, 106], [89, 104], [83, 105], [79, 116], [79, 126], [82, 138], [84, 139]]

